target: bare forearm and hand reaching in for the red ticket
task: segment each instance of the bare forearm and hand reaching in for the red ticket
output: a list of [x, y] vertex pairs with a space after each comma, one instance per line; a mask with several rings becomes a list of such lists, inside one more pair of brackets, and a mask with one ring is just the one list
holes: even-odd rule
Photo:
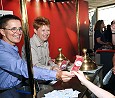
[[87, 80], [82, 71], [74, 72], [74, 74], [81, 81], [82, 85], [85, 85], [90, 91], [92, 91], [98, 98], [115, 98], [115, 96], [106, 90], [99, 88], [89, 80]]

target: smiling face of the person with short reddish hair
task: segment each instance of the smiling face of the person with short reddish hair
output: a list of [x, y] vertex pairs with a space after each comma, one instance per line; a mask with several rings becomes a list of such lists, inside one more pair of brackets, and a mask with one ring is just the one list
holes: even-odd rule
[[44, 42], [47, 41], [50, 35], [50, 27], [47, 25], [43, 25], [37, 30], [34, 29], [34, 32], [37, 34], [37, 36]]

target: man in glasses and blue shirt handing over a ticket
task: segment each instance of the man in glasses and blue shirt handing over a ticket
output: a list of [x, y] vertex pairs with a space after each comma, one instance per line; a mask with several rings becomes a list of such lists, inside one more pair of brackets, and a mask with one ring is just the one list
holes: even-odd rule
[[[0, 18], [0, 98], [26, 98], [16, 90], [23, 86], [22, 81], [14, 76], [28, 78], [27, 63], [19, 53], [17, 43], [22, 38], [22, 25], [19, 17], [4, 15]], [[13, 73], [13, 74], [12, 74]], [[74, 74], [67, 71], [48, 70], [33, 66], [35, 79], [69, 81]], [[28, 97], [27, 97], [28, 98]]]

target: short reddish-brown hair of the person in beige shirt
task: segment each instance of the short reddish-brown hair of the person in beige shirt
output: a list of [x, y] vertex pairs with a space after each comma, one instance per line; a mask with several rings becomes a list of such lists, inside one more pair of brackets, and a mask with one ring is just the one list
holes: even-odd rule
[[37, 17], [36, 19], [34, 19], [34, 22], [33, 22], [34, 29], [37, 30], [38, 28], [40, 28], [43, 25], [50, 26], [49, 19], [47, 19], [45, 17]]

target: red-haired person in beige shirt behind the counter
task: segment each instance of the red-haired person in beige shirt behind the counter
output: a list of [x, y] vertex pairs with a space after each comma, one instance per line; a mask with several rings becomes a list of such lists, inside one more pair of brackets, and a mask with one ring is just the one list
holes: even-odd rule
[[[32, 62], [41, 68], [59, 70], [59, 66], [49, 56], [50, 21], [45, 17], [37, 17], [33, 22], [34, 35], [30, 39]], [[22, 47], [22, 58], [25, 59], [25, 49]]]

